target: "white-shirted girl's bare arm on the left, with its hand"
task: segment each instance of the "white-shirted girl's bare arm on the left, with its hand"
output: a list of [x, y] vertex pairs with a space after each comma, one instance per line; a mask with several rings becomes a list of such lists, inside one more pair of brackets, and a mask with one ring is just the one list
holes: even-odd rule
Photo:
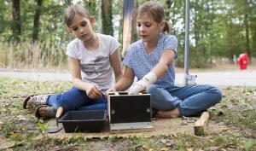
[[68, 63], [70, 67], [70, 72], [72, 74], [74, 86], [79, 90], [85, 90], [87, 96], [92, 99], [101, 97], [102, 94], [100, 93], [99, 88], [96, 84], [86, 83], [82, 80], [79, 60], [69, 56]]

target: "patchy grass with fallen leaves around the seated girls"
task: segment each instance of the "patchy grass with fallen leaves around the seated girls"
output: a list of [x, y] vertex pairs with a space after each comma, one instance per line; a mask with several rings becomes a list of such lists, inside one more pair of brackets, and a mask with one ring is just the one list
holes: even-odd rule
[[150, 138], [113, 135], [103, 139], [86, 139], [78, 134], [34, 140], [36, 136], [44, 136], [45, 121], [36, 119], [31, 110], [24, 110], [23, 99], [32, 94], [61, 93], [71, 87], [71, 82], [0, 78], [0, 139], [25, 142], [16, 145], [14, 150], [256, 150], [255, 87], [222, 87], [223, 100], [209, 113], [211, 120], [224, 123], [230, 129], [218, 134], [199, 137], [183, 133]]

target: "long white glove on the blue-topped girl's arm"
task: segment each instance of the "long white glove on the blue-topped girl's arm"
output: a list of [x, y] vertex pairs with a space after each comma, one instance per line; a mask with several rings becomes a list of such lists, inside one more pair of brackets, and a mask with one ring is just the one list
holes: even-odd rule
[[153, 72], [146, 74], [141, 80], [132, 84], [129, 89], [129, 94], [136, 95], [142, 90], [146, 90], [150, 84], [153, 84], [157, 80], [157, 76]]

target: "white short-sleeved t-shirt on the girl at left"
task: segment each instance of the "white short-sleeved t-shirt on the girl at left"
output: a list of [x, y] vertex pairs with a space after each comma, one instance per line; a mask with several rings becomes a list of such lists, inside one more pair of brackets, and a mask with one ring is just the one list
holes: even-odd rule
[[83, 41], [75, 38], [67, 44], [68, 56], [79, 60], [82, 80], [100, 86], [102, 93], [113, 85], [113, 68], [109, 56], [119, 47], [119, 42], [109, 35], [96, 33], [99, 40], [98, 49], [88, 50]]

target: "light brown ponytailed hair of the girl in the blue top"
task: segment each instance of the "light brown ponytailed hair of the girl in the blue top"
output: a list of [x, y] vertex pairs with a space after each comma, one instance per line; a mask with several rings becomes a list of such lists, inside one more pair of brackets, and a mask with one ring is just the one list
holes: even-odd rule
[[170, 32], [171, 26], [165, 20], [165, 10], [160, 3], [154, 1], [143, 3], [143, 5], [138, 9], [137, 18], [140, 18], [145, 14], [149, 15], [155, 22], [158, 23], [164, 20], [165, 27], [163, 28], [162, 32]]

